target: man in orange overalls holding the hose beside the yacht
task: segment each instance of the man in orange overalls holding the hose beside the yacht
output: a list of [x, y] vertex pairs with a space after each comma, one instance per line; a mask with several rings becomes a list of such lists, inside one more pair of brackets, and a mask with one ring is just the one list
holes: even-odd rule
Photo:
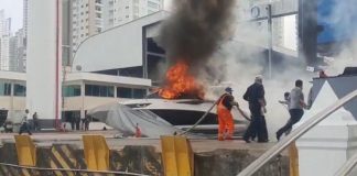
[[230, 87], [227, 87], [225, 91], [226, 92], [219, 98], [217, 105], [218, 141], [232, 140], [235, 132], [235, 122], [230, 110], [234, 106], [238, 107], [238, 102], [235, 101], [235, 98], [231, 95], [232, 89]]

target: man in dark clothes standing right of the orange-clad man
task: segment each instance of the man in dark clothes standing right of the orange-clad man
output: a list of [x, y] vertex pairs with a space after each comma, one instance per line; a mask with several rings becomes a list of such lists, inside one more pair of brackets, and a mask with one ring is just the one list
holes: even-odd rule
[[268, 130], [264, 113], [267, 112], [264, 87], [262, 85], [261, 76], [257, 76], [255, 84], [248, 87], [244, 99], [249, 103], [251, 113], [251, 122], [244, 135], [244, 140], [249, 143], [250, 138], [258, 136], [258, 142], [268, 142]]

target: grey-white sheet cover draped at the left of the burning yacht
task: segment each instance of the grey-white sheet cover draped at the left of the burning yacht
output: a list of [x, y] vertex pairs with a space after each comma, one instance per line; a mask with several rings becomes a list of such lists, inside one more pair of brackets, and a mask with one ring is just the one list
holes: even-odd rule
[[110, 103], [94, 108], [88, 111], [88, 114], [118, 130], [125, 136], [136, 134], [137, 123], [141, 134], [148, 138], [182, 133], [182, 130], [174, 128], [149, 110], [136, 110], [120, 103]]

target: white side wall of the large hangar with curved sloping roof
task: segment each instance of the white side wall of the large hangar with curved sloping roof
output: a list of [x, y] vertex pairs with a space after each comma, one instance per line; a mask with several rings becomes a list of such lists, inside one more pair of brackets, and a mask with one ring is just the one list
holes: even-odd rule
[[80, 65], [83, 72], [95, 72], [141, 66], [142, 29], [166, 15], [166, 12], [156, 12], [88, 37], [79, 45], [73, 67]]

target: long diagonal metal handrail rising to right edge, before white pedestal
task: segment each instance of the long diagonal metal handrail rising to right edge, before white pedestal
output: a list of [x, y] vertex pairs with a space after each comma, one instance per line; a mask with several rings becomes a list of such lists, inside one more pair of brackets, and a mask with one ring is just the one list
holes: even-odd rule
[[255, 174], [260, 167], [262, 167], [267, 162], [269, 162], [272, 157], [281, 153], [284, 148], [286, 148], [292, 142], [306, 133], [310, 129], [315, 127], [318, 122], [326, 119], [329, 114], [335, 112], [337, 109], [343, 107], [345, 103], [349, 102], [354, 98], [357, 97], [357, 90], [348, 94], [342, 99], [337, 100], [336, 103], [327, 107], [323, 111], [318, 112], [311, 119], [306, 120], [303, 124], [298, 127], [294, 131], [290, 133], [286, 138], [282, 139], [274, 146], [269, 148], [266, 153], [263, 153], [260, 157], [258, 157], [255, 162], [252, 162], [248, 167], [241, 170], [237, 176], [250, 176]]

